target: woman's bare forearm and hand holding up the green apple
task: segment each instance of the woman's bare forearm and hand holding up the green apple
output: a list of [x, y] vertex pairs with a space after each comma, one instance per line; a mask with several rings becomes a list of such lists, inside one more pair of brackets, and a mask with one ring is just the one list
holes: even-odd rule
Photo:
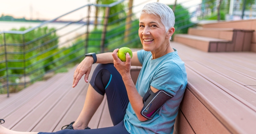
[[[147, 118], [143, 117], [140, 114], [141, 109], [143, 108], [143, 100], [140, 94], [138, 93], [132, 78], [131, 78], [131, 56], [129, 53], [126, 53], [126, 62], [122, 62], [116, 55], [116, 52], [118, 49], [115, 49], [112, 53], [112, 56], [114, 58], [114, 66], [116, 67], [117, 71], [121, 74], [124, 85], [127, 90], [128, 98], [130, 100], [130, 103], [132, 105], [132, 109], [134, 110], [135, 114], [137, 115], [138, 119], [140, 121], [146, 121]], [[136, 55], [137, 59], [138, 56]], [[138, 60], [139, 61], [139, 60]]]

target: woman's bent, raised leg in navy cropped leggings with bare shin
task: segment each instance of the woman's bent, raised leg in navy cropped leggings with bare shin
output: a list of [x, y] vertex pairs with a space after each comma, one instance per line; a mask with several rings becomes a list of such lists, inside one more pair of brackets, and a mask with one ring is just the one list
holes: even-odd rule
[[122, 77], [114, 64], [99, 64], [92, 74], [84, 108], [72, 125], [75, 130], [88, 126], [105, 93], [113, 124], [116, 125], [123, 121], [129, 99]]

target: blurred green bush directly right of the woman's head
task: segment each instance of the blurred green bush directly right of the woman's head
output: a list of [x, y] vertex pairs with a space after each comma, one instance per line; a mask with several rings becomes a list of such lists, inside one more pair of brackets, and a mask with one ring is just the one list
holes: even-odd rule
[[[173, 5], [169, 5], [169, 7], [172, 8]], [[190, 21], [190, 15], [188, 10], [182, 7], [182, 5], [180, 4], [176, 5], [174, 15], [175, 15], [174, 35], [176, 33], [188, 33], [188, 28], [193, 26], [193, 23]]]

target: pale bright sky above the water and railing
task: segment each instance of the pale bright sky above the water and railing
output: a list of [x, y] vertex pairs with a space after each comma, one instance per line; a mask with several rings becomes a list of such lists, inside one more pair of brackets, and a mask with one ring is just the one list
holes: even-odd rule
[[[54, 19], [68, 11], [72, 11], [88, 3], [95, 3], [96, 0], [0, 0], [0, 15], [10, 15], [14, 18], [26, 19]], [[156, 2], [152, 0], [151, 2]], [[164, 4], [173, 4], [175, 0], [159, 0]], [[188, 0], [177, 0], [177, 3]], [[192, 0], [193, 3], [200, 3], [201, 0]], [[133, 0], [133, 5], [141, 0]], [[187, 3], [189, 6], [190, 4]], [[142, 6], [143, 7], [143, 6]], [[140, 7], [140, 9], [142, 8]]]

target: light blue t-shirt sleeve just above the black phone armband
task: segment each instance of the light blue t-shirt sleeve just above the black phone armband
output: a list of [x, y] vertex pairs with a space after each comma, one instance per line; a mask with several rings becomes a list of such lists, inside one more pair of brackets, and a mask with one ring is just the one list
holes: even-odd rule
[[175, 96], [180, 87], [185, 86], [182, 70], [175, 63], [166, 63], [156, 71], [150, 86]]

